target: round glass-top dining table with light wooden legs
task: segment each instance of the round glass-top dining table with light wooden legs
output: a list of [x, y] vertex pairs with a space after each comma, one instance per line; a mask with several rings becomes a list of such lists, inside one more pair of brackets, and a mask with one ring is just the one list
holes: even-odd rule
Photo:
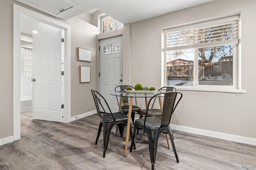
[[[138, 97], [138, 98], [145, 98], [145, 104], [146, 104], [146, 108], [148, 107], [148, 98], [153, 97], [154, 95], [156, 95], [157, 93], [159, 93], [158, 91], [154, 92], [154, 93], [127, 93], [127, 92], [122, 92], [122, 91], [113, 91], [110, 93], [110, 95], [113, 96], [118, 96], [120, 97], [120, 102], [119, 102], [119, 109], [118, 112], [121, 112], [121, 107], [122, 107], [122, 99], [123, 97], [129, 97], [130, 98], [130, 102], [129, 102], [129, 111], [128, 111], [128, 122], [127, 122], [127, 130], [126, 130], [126, 142], [125, 142], [125, 152], [124, 152], [124, 156], [127, 156], [127, 150], [128, 150], [128, 141], [129, 141], [129, 135], [130, 135], [130, 126], [131, 126], [131, 115], [132, 115], [132, 103], [133, 103], [133, 98]], [[158, 99], [159, 99], [159, 104], [160, 104], [160, 109], [162, 111], [162, 100], [161, 97], [163, 97], [163, 95], [158, 95]], [[116, 134], [117, 134], [118, 129], [116, 128]], [[169, 138], [168, 135], [166, 135], [166, 140], [167, 140], [167, 144], [168, 144], [168, 148], [170, 149], [170, 144], [169, 144]]]

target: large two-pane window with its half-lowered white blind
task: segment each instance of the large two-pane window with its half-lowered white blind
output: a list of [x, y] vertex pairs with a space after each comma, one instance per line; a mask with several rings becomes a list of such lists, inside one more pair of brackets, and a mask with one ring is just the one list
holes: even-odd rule
[[236, 89], [239, 16], [163, 30], [166, 85]]

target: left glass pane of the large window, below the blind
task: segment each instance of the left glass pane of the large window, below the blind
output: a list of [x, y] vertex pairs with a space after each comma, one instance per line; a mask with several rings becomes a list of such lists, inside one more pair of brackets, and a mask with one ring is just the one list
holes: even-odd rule
[[166, 85], [194, 86], [194, 49], [166, 52]]

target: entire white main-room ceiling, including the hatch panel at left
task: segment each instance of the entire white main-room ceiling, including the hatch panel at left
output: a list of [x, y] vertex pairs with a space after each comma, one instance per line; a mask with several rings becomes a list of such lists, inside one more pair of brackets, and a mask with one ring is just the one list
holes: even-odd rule
[[[94, 14], [97, 10], [126, 24], [160, 16], [177, 10], [197, 6], [213, 0], [17, 0], [48, 14], [67, 20], [84, 12]], [[53, 14], [61, 8], [72, 8]], [[64, 6], [64, 7], [62, 7]], [[50, 12], [49, 12], [50, 11]]]

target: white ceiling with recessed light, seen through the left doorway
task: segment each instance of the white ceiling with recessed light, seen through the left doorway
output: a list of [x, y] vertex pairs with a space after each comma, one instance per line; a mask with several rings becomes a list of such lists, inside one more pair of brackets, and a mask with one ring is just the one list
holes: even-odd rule
[[58, 30], [58, 28], [44, 24], [42, 22], [38, 22], [26, 16], [21, 16], [20, 20], [21, 20], [20, 32], [23, 32], [26, 34], [32, 35], [33, 30], [36, 30], [37, 32]]

